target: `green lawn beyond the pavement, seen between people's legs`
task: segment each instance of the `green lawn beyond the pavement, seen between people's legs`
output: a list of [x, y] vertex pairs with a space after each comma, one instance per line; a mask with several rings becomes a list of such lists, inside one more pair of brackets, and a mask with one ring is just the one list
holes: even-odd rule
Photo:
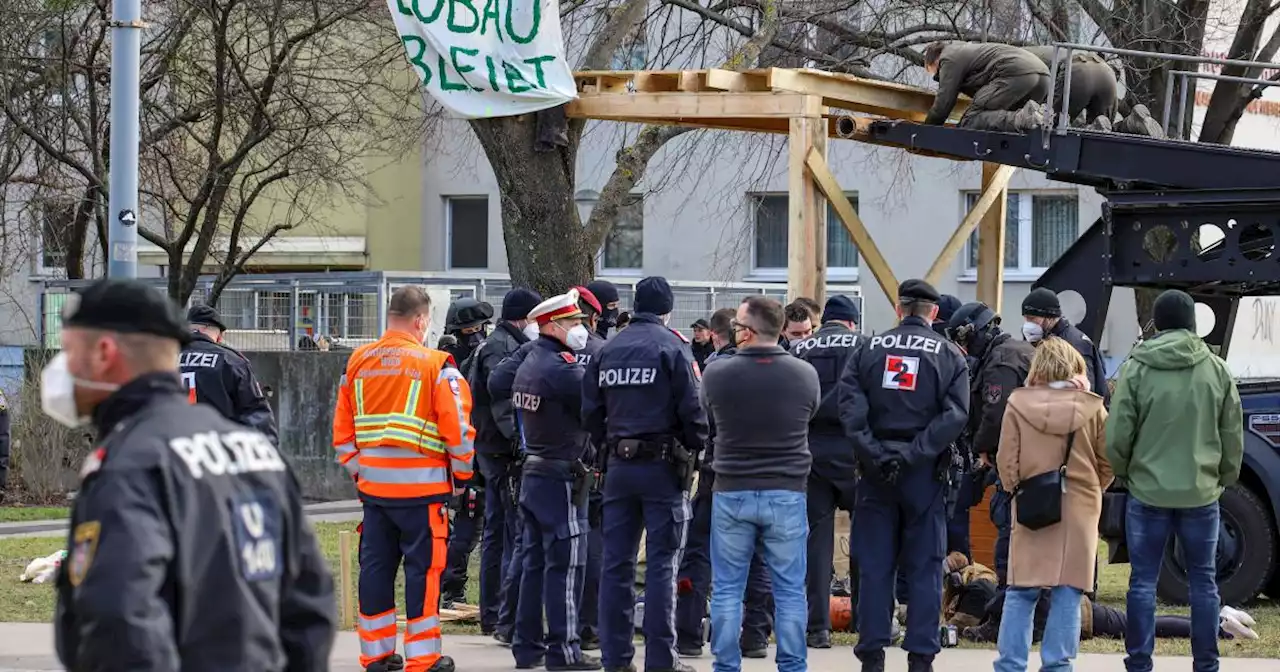
[[[338, 568], [338, 532], [353, 530], [355, 524], [319, 524], [315, 526], [320, 538], [320, 548], [329, 561], [329, 564]], [[352, 538], [355, 544], [358, 538]], [[52, 618], [54, 613], [54, 588], [50, 584], [32, 585], [18, 581], [18, 575], [33, 558], [47, 556], [63, 548], [63, 538], [9, 538], [0, 539], [0, 622], [45, 622]], [[477, 554], [471, 558], [470, 579], [467, 585], [467, 603], [476, 604], [477, 600]], [[1103, 553], [1105, 557], [1105, 553]], [[1102, 564], [1098, 580], [1098, 600], [1111, 607], [1124, 608], [1124, 596], [1129, 585], [1129, 566]], [[351, 585], [356, 585], [356, 568], [352, 562], [352, 575], [348, 577]], [[338, 577], [340, 581], [342, 577]], [[403, 613], [403, 579], [397, 581], [397, 607]], [[1254, 641], [1221, 641], [1220, 649], [1225, 657], [1245, 658], [1280, 658], [1280, 602], [1265, 600], [1245, 607], [1258, 622], [1254, 630], [1261, 639]], [[1161, 607], [1160, 613], [1187, 614], [1185, 608]], [[445, 625], [448, 634], [477, 634], [476, 625]], [[836, 634], [837, 645], [852, 645], [856, 635]], [[983, 648], [984, 645], [964, 644], [966, 648]], [[989, 646], [987, 646], [989, 648]], [[1124, 653], [1124, 641], [1093, 639], [1082, 643], [1080, 649], [1087, 653]], [[1190, 655], [1189, 640], [1158, 640], [1156, 653], [1161, 655]]]

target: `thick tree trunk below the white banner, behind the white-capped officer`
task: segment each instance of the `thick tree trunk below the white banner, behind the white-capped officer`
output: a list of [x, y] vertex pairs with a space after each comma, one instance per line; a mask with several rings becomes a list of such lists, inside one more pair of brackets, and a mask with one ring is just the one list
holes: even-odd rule
[[591, 280], [595, 251], [573, 202], [576, 137], [567, 147], [534, 151], [534, 118], [475, 119], [471, 129], [498, 178], [511, 282], [553, 296]]

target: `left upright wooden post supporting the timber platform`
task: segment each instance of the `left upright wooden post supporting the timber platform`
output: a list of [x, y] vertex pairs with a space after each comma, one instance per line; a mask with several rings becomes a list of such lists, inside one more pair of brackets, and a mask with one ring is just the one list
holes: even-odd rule
[[[822, 101], [815, 96], [814, 105]], [[810, 150], [827, 155], [827, 122], [792, 116], [787, 160], [787, 301], [827, 293], [827, 204], [805, 170]]]

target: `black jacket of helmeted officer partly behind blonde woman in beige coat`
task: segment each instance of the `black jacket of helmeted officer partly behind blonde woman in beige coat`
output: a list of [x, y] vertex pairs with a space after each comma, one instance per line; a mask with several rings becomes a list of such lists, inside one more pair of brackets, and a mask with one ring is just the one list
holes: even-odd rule
[[992, 338], [987, 349], [978, 356], [969, 401], [969, 430], [978, 454], [993, 456], [1000, 448], [1005, 404], [1015, 389], [1027, 384], [1036, 348], [1030, 343], [1004, 333]]

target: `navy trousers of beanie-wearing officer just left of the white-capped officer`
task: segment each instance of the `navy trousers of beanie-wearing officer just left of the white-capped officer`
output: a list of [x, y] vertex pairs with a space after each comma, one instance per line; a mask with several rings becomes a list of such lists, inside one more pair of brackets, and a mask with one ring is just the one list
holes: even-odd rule
[[515, 520], [518, 516], [508, 481], [515, 468], [512, 458], [476, 452], [476, 463], [485, 480], [484, 534], [480, 541], [480, 630], [488, 632], [498, 625], [503, 579], [520, 527]]

